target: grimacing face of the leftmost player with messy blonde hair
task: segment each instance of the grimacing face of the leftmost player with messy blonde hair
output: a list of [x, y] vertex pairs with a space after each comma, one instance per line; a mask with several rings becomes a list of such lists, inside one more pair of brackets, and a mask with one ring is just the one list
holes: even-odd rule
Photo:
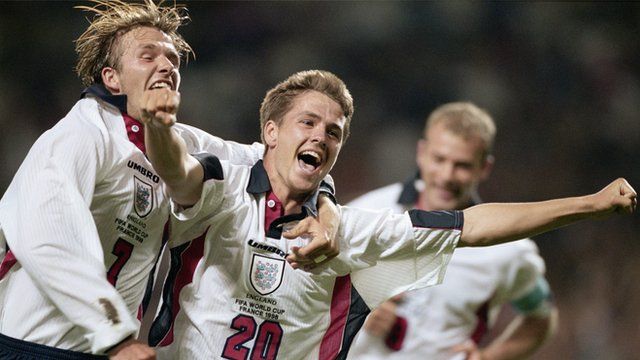
[[180, 56], [171, 38], [162, 31], [134, 28], [121, 36], [115, 51], [120, 54], [114, 71], [116, 81], [108, 87], [116, 94], [127, 95], [127, 113], [132, 117], [140, 119], [145, 91], [179, 88]]

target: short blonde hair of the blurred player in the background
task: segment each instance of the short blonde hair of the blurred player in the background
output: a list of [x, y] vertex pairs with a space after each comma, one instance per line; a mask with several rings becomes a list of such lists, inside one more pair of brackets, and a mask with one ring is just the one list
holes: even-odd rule
[[485, 145], [483, 158], [493, 151], [496, 124], [489, 113], [473, 103], [452, 102], [436, 108], [427, 118], [425, 138], [429, 129], [436, 124], [443, 124], [447, 130], [465, 139], [480, 138]]

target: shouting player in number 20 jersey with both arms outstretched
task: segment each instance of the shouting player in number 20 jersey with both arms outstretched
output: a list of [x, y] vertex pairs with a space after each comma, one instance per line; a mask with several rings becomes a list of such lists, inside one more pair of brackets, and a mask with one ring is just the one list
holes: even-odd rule
[[[332, 359], [342, 346], [351, 279], [375, 307], [397, 291], [440, 282], [459, 244], [513, 241], [635, 206], [635, 192], [618, 179], [589, 196], [462, 211], [342, 207], [340, 254], [311, 272], [293, 269], [283, 256], [308, 240], [282, 239], [281, 231], [315, 213], [318, 185], [338, 158], [352, 114], [353, 100], [338, 77], [296, 73], [262, 103], [264, 160], [234, 166], [187, 155], [172, 119], [149, 111], [147, 149], [172, 197], [172, 235], [176, 244], [196, 239], [175, 257], [178, 275], [165, 288], [177, 317], [173, 323], [158, 318], [168, 331], [159, 354]], [[367, 270], [375, 273], [373, 283], [360, 282]]]

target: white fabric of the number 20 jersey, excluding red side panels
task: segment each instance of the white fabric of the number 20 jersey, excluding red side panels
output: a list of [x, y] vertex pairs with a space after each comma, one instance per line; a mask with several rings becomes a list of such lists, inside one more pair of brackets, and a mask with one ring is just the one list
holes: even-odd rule
[[[251, 168], [225, 162], [222, 166], [225, 180], [207, 181], [202, 198], [193, 207], [173, 208], [178, 219], [173, 224], [178, 240], [173, 244], [202, 234], [206, 238], [193, 281], [179, 296], [173, 343], [159, 348], [162, 359], [217, 359], [224, 357], [224, 351], [239, 351], [234, 345], [247, 355], [269, 348], [275, 349], [278, 358], [322, 358], [320, 345], [331, 319], [336, 277], [374, 266], [379, 258], [389, 256], [413, 265], [416, 259], [428, 259], [418, 262], [426, 270], [405, 266], [402, 271], [411, 268], [412, 276], [398, 278], [393, 287], [416, 281], [418, 275], [439, 278], [446, 254], [460, 237], [459, 229], [413, 228], [407, 215], [342, 207], [340, 255], [311, 272], [294, 270], [284, 261], [284, 254], [309, 239], [267, 238], [265, 194], [256, 196], [245, 190]], [[262, 290], [260, 276], [269, 276], [256, 267], [258, 261], [274, 269], [269, 276], [275, 280]], [[381, 274], [380, 279], [395, 274]], [[389, 285], [387, 281], [384, 287]], [[346, 301], [348, 306], [349, 299]], [[266, 341], [257, 341], [267, 328], [280, 330]], [[234, 342], [239, 339], [242, 342]]]

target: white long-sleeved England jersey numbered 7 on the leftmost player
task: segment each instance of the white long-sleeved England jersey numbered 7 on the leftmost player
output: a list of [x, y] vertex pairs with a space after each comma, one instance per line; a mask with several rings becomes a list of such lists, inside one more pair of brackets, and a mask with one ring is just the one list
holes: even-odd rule
[[[0, 333], [93, 353], [136, 333], [169, 203], [125, 101], [89, 88], [36, 141], [0, 201]], [[176, 128], [193, 151], [241, 163], [262, 155]]]

